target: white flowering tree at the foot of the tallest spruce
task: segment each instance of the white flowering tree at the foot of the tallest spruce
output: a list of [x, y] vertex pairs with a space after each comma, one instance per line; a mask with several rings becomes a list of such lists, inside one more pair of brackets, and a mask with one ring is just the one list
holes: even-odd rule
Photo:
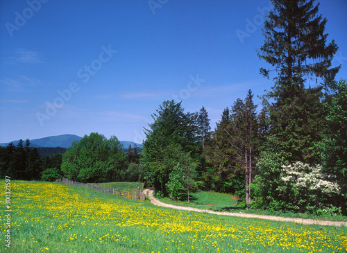
[[291, 211], [311, 213], [341, 213], [333, 200], [341, 194], [335, 175], [323, 173], [321, 166], [296, 162], [282, 166], [280, 186], [276, 190], [283, 207]]

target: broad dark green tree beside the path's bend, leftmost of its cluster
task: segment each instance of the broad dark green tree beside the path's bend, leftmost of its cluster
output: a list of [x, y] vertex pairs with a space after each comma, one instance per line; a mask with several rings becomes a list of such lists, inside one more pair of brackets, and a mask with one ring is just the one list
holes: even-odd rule
[[146, 141], [141, 159], [146, 168], [146, 183], [164, 194], [174, 166], [198, 151], [197, 114], [185, 113], [181, 103], [164, 101], [151, 115], [154, 122], [144, 129]]

